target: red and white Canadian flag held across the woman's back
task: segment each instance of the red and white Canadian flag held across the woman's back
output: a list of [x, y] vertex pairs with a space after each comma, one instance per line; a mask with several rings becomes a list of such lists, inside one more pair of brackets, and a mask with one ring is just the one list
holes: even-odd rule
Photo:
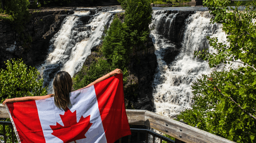
[[70, 101], [65, 110], [54, 97], [7, 103], [19, 143], [114, 143], [131, 134], [122, 74], [70, 93]]

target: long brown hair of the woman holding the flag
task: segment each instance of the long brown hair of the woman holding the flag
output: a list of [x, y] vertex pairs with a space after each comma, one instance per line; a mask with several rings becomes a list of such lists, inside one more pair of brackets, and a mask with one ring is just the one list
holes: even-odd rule
[[72, 78], [68, 72], [57, 72], [53, 79], [54, 103], [58, 108], [65, 108], [70, 103], [69, 93], [72, 92]]

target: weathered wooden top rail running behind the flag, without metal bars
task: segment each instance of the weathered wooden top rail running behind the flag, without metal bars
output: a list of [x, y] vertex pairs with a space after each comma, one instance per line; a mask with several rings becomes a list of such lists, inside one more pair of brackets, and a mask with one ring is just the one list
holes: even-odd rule
[[[176, 143], [235, 143], [209, 132], [186, 125], [174, 119], [147, 110], [126, 110], [130, 125], [143, 125], [161, 131], [177, 140]], [[6, 107], [0, 104], [0, 118], [10, 118]]]

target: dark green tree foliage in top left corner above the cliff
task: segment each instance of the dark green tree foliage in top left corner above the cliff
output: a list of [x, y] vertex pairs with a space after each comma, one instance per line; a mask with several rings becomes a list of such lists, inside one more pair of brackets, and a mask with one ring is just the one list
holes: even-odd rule
[[[17, 32], [23, 31], [24, 24], [29, 20], [30, 14], [27, 11], [29, 6], [28, 0], [1, 0], [3, 7], [0, 7], [0, 13], [7, 14], [8, 19], [13, 24]], [[2, 4], [2, 3], [1, 3]], [[0, 17], [2, 18], [2, 17]]]

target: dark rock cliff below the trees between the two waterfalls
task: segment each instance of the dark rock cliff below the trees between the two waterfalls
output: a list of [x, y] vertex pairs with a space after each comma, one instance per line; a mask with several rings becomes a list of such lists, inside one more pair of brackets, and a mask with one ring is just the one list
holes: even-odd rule
[[153, 111], [152, 81], [154, 80], [157, 61], [152, 39], [148, 37], [145, 48], [135, 49], [130, 57], [130, 74], [128, 83], [124, 87], [125, 93], [128, 95], [125, 96], [133, 98], [130, 101], [133, 108]]

